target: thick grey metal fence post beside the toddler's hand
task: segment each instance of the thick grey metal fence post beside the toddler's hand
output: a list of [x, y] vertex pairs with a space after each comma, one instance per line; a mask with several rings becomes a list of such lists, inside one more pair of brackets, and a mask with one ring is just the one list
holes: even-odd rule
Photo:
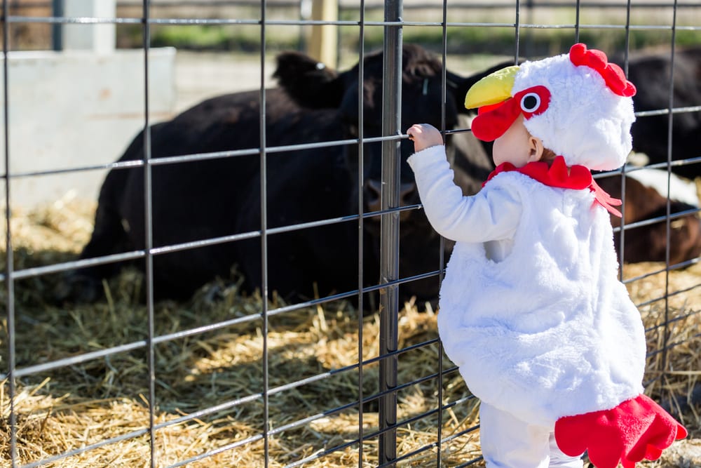
[[[402, 20], [402, 0], [385, 2], [385, 21]], [[402, 27], [386, 25], [383, 44], [383, 98], [382, 135], [400, 133], [402, 115]], [[400, 140], [382, 143], [382, 188], [381, 206], [383, 210], [399, 206], [400, 185]], [[399, 279], [399, 213], [388, 213], [381, 218], [381, 260], [382, 283]], [[397, 314], [399, 312], [399, 286], [387, 286], [380, 296], [380, 355], [397, 351]], [[379, 401], [379, 463], [387, 464], [397, 457], [397, 356], [389, 356], [380, 361]]]

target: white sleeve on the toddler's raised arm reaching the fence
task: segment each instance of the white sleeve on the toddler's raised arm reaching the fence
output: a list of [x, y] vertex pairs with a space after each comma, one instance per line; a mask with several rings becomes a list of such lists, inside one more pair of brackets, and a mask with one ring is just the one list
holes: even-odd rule
[[408, 162], [426, 216], [438, 234], [458, 242], [496, 241], [514, 236], [522, 213], [516, 191], [498, 186], [463, 196], [462, 189], [453, 181], [443, 146], [414, 153]]

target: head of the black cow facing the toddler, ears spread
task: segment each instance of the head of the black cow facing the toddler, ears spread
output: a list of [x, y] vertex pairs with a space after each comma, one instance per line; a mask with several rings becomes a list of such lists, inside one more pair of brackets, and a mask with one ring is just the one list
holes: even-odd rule
[[[458, 114], [467, 114], [463, 107], [465, 93], [477, 80], [498, 65], [475, 76], [463, 78], [446, 73], [445, 127], [450, 130], [458, 124]], [[280, 86], [302, 107], [337, 109], [345, 123], [348, 138], [358, 138], [359, 122], [359, 65], [346, 72], [335, 72], [316, 60], [297, 52], [278, 55], [275, 77]], [[365, 56], [362, 80], [362, 135], [364, 138], [381, 136], [383, 55]], [[405, 44], [402, 53], [402, 116], [400, 131], [413, 123], [430, 123], [442, 128], [442, 63], [435, 55], [420, 46]], [[451, 138], [447, 138], [451, 145]], [[407, 139], [400, 142], [402, 203], [417, 203], [418, 194], [414, 175], [407, 158], [414, 152], [414, 144]], [[358, 147], [348, 147], [351, 171], [358, 170]], [[451, 153], [449, 149], [449, 154]], [[381, 187], [381, 143], [367, 143], [363, 147], [364, 192], [366, 210], [378, 210]]]

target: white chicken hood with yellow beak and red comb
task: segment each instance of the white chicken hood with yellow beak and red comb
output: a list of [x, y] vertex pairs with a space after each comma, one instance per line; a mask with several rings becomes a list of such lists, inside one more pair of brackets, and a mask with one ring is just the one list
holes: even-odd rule
[[496, 140], [522, 119], [526, 130], [569, 166], [608, 170], [622, 166], [630, 152], [634, 93], [604, 53], [575, 44], [569, 54], [524, 62], [480, 80], [465, 96], [465, 107], [480, 108], [472, 121], [480, 140]]

